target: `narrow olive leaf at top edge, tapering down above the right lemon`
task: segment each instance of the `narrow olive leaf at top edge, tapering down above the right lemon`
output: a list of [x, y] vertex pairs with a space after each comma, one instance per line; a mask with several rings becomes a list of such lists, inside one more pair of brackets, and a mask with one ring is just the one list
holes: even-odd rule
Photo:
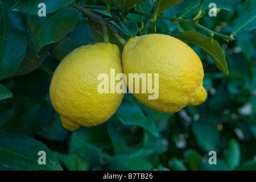
[[182, 1], [183, 0], [156, 0], [154, 7], [154, 17], [152, 18], [152, 22], [155, 22], [157, 16], [163, 13], [163, 11], [181, 3]]

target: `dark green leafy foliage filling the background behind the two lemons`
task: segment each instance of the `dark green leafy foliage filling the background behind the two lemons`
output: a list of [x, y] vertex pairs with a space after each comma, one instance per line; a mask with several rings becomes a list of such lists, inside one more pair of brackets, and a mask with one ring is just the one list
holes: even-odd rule
[[[249, 1], [251, 11], [243, 13], [243, 5]], [[203, 104], [162, 114], [125, 94], [109, 121], [96, 127], [81, 126], [73, 132], [61, 125], [49, 101], [49, 84], [67, 53], [103, 41], [102, 27], [68, 7], [71, 1], [42, 1], [49, 13], [46, 18], [37, 15], [39, 1], [31, 1], [30, 6], [25, 0], [16, 2], [0, 0], [1, 170], [256, 170], [255, 1], [216, 1], [221, 7], [216, 17], [208, 16], [209, 9], [204, 7], [199, 20], [204, 27], [230, 35], [234, 27], [247, 23], [251, 31], [245, 28], [229, 43], [214, 36], [225, 53], [228, 76], [203, 49], [188, 43], [204, 66], [208, 98]], [[106, 6], [104, 2], [108, 1], [81, 3]], [[146, 2], [148, 13], [153, 14], [152, 1]], [[185, 14], [184, 7], [192, 6], [189, 2], [193, 1], [183, 1], [162, 15]], [[189, 11], [187, 18], [193, 18], [197, 9]], [[155, 32], [150, 18], [130, 13], [124, 22], [117, 11], [94, 11], [115, 20], [126, 35]], [[141, 22], [143, 30], [139, 30]], [[188, 30], [210, 38], [191, 24], [156, 20], [156, 33]], [[109, 36], [122, 51], [110, 29]], [[46, 151], [47, 165], [38, 164], [42, 150]], [[217, 152], [217, 165], [208, 163], [212, 150]]]

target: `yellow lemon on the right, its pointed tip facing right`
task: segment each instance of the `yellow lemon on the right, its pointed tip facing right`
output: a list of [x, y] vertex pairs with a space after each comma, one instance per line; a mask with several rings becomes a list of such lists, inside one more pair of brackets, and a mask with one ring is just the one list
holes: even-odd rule
[[[152, 95], [148, 92], [134, 93], [133, 90], [133, 95], [160, 113], [175, 113], [187, 105], [199, 105], [207, 98], [201, 60], [191, 47], [172, 36], [148, 34], [130, 38], [122, 52], [122, 63], [125, 75], [159, 74], [159, 97], [156, 100], [148, 100], [148, 95]], [[129, 76], [127, 85], [129, 87]], [[152, 86], [154, 88], [154, 77]]]

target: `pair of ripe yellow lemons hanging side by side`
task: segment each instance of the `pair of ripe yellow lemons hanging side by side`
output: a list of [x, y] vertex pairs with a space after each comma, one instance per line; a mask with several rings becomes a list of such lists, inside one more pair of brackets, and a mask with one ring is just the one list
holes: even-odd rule
[[[66, 129], [96, 126], [115, 113], [123, 93], [98, 92], [101, 82], [98, 75], [110, 76], [110, 69], [125, 75], [158, 73], [157, 99], [148, 100], [148, 92], [133, 94], [142, 104], [161, 113], [175, 113], [187, 105], [199, 105], [207, 97], [199, 57], [191, 47], [172, 36], [148, 34], [130, 38], [122, 60], [114, 44], [81, 46], [58, 65], [49, 89], [51, 103]], [[115, 84], [118, 82], [115, 80]]]

